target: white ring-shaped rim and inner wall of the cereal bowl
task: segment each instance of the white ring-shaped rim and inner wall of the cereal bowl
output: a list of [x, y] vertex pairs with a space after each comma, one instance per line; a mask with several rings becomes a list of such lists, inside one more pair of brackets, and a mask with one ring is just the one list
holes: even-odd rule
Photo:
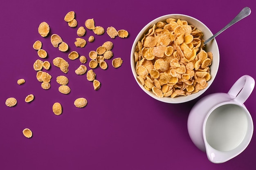
[[[132, 74], [133, 77], [135, 78], [135, 81], [137, 82], [137, 84], [139, 85], [139, 87], [145, 92], [147, 93], [150, 97], [153, 97], [154, 99], [161, 101], [161, 102], [165, 102], [165, 103], [171, 103], [171, 104], [179, 104], [179, 103], [184, 103], [184, 102], [189, 102], [193, 99], [198, 98], [200, 95], [202, 95], [205, 91], [207, 91], [207, 89], [211, 86], [211, 84], [213, 83], [213, 80], [215, 79], [217, 73], [218, 73], [218, 68], [219, 68], [219, 63], [220, 63], [220, 51], [218, 48], [218, 44], [216, 42], [216, 39], [214, 38], [213, 40], [211, 40], [211, 42], [207, 43], [207, 46], [210, 46], [211, 44], [216, 46], [216, 51], [217, 51], [217, 56], [214, 56], [214, 60], [215, 60], [215, 64], [216, 65], [216, 71], [211, 74], [211, 79], [208, 81], [208, 86], [206, 88], [204, 88], [203, 90], [198, 91], [197, 93], [193, 93], [191, 95], [186, 95], [186, 96], [178, 96], [179, 98], [182, 97], [182, 99], [177, 99], [178, 97], [175, 98], [171, 98], [171, 97], [157, 97], [152, 91], [147, 91], [144, 86], [142, 86], [140, 84], [140, 82], [137, 79], [137, 73], [135, 71], [135, 62], [134, 62], [134, 52], [135, 52], [135, 46], [137, 45], [137, 42], [141, 39], [142, 35], [144, 33], [146, 33], [146, 31], [148, 31], [148, 29], [150, 29], [154, 24], [156, 24], [158, 21], [164, 21], [167, 18], [177, 18], [177, 19], [181, 19], [181, 20], [186, 20], [185, 18], [190, 18], [191, 20], [194, 20], [195, 22], [197, 22], [199, 25], [202, 25], [207, 32], [209, 32], [210, 36], [213, 35], [213, 33], [211, 32], [211, 30], [200, 20], [193, 18], [192, 16], [189, 15], [184, 15], [184, 14], [167, 14], [167, 15], [162, 15], [159, 16], [158, 18], [153, 19], [152, 21], [148, 22], [148, 24], [146, 24], [141, 31], [139, 31], [139, 33], [137, 34], [133, 44], [132, 44], [132, 49], [131, 49], [131, 53], [130, 53], [130, 66], [131, 66], [131, 70], [132, 70]], [[195, 24], [195, 25], [198, 25]], [[193, 26], [195, 26], [193, 24]], [[195, 26], [197, 28], [197, 26]], [[201, 29], [200, 29], [201, 30]], [[202, 31], [202, 30], [201, 30]], [[202, 31], [203, 32], [203, 31]], [[206, 46], [206, 47], [207, 47]], [[168, 98], [168, 99], [166, 99]]]

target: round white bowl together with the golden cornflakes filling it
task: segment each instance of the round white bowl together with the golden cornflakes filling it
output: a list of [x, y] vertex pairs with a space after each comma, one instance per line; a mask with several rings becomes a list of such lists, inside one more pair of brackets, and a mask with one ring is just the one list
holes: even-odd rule
[[183, 14], [149, 22], [132, 44], [130, 64], [139, 87], [166, 103], [184, 103], [202, 95], [218, 72], [220, 54], [213, 35], [199, 20]]

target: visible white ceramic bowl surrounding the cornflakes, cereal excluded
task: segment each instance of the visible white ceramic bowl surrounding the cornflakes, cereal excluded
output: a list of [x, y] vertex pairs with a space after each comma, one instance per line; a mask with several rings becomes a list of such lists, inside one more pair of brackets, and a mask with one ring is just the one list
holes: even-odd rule
[[211, 40], [211, 42], [207, 43], [207, 45], [204, 47], [204, 50], [206, 52], [212, 52], [213, 53], [213, 61], [212, 61], [212, 64], [210, 66], [211, 79], [208, 81], [207, 88], [204, 88], [203, 90], [199, 91], [198, 93], [193, 93], [193, 94], [187, 95], [187, 96], [178, 96], [178, 97], [175, 97], [175, 98], [171, 98], [171, 97], [159, 98], [152, 91], [147, 91], [144, 88], [144, 86], [142, 86], [140, 84], [140, 82], [138, 81], [138, 79], [137, 79], [137, 73], [136, 73], [136, 70], [135, 70], [135, 61], [134, 61], [135, 46], [137, 45], [137, 42], [139, 40], [141, 40], [141, 38], [143, 38], [144, 34], [147, 33], [148, 29], [150, 29], [154, 24], [156, 24], [159, 21], [165, 21], [167, 18], [176, 18], [176, 19], [180, 19], [180, 20], [186, 20], [188, 22], [188, 24], [193, 25], [197, 29], [202, 31], [202, 33], [204, 34], [204, 36], [203, 36], [204, 40], [207, 40], [208, 38], [210, 38], [213, 35], [211, 30], [206, 25], [204, 25], [201, 21], [199, 21], [199, 20], [197, 20], [197, 19], [195, 19], [191, 16], [183, 15], [183, 14], [163, 15], [159, 18], [156, 18], [155, 20], [152, 20], [146, 26], [144, 26], [143, 29], [141, 29], [141, 31], [139, 32], [139, 34], [137, 35], [137, 37], [135, 38], [135, 40], [132, 44], [132, 50], [131, 50], [131, 55], [130, 55], [130, 64], [131, 64], [132, 74], [133, 74], [137, 84], [149, 96], [151, 96], [151, 97], [153, 97], [153, 98], [155, 98], [155, 99], [157, 99], [161, 102], [173, 103], [173, 104], [175, 104], [175, 103], [184, 103], [184, 102], [188, 102], [188, 101], [191, 101], [191, 100], [199, 97], [211, 86], [211, 84], [212, 84], [213, 80], [215, 79], [216, 74], [218, 72], [219, 62], [220, 62], [220, 53], [219, 53], [219, 49], [218, 49], [218, 44], [217, 44], [215, 39]]

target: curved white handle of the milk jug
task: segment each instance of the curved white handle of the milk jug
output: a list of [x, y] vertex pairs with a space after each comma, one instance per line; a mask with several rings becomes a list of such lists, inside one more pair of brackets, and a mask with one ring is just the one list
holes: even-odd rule
[[255, 80], [249, 75], [243, 75], [230, 88], [228, 94], [240, 104], [243, 104], [251, 95]]

